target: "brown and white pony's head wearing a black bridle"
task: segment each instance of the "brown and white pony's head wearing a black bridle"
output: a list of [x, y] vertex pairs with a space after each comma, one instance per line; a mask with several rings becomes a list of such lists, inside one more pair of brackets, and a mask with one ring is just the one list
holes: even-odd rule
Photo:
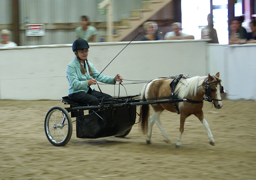
[[205, 81], [205, 95], [207, 96], [207, 101], [212, 102], [217, 109], [223, 106], [221, 99], [223, 87], [221, 86], [221, 79], [219, 77], [220, 73], [217, 73], [215, 76], [208, 74], [208, 79]]

